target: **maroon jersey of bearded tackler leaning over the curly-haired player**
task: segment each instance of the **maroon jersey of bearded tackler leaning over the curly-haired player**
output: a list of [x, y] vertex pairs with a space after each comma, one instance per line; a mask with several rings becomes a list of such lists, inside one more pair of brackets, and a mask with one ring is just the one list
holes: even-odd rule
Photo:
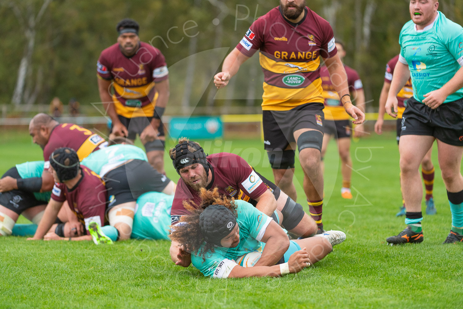
[[[212, 181], [206, 189], [217, 187], [221, 195], [246, 202], [252, 202], [251, 199], [256, 199], [268, 189], [256, 171], [238, 155], [220, 152], [207, 156], [206, 160], [210, 164], [209, 173], [212, 173]], [[170, 212], [171, 224], [176, 224], [182, 215], [189, 214], [183, 206], [185, 200], [192, 200], [196, 205], [201, 203], [199, 193], [180, 178]]]

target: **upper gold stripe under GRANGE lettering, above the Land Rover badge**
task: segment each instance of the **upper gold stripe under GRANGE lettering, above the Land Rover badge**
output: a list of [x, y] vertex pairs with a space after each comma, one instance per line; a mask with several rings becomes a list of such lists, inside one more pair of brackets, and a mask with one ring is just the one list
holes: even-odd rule
[[263, 69], [273, 73], [289, 74], [289, 73], [304, 73], [316, 71], [320, 66], [320, 57], [307, 62], [286, 62], [275, 61], [269, 57], [259, 53], [259, 62]]

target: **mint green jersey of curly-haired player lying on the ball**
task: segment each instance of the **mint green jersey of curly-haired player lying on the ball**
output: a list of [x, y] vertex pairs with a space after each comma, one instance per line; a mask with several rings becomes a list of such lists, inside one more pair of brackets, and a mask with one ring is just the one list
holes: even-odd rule
[[265, 233], [272, 218], [259, 211], [250, 203], [243, 200], [235, 200], [237, 204], [239, 227], [239, 244], [235, 248], [214, 247], [215, 252], [208, 252], [204, 256], [191, 255], [191, 263], [206, 277], [224, 278], [228, 277], [236, 258], [251, 251], [262, 252], [260, 240]]

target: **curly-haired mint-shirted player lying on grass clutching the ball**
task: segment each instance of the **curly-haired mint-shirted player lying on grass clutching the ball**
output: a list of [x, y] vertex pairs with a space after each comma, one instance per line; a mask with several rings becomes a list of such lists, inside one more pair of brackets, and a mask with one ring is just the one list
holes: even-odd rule
[[[345, 239], [343, 232], [330, 231], [316, 235], [320, 237], [289, 240], [277, 222], [248, 202], [221, 196], [217, 188], [201, 189], [200, 196], [199, 206], [185, 203], [191, 215], [171, 226], [170, 239], [188, 248], [192, 264], [208, 277], [296, 273], [323, 259], [332, 252], [332, 245]], [[238, 257], [254, 251], [262, 255], [253, 267], [236, 263]]]

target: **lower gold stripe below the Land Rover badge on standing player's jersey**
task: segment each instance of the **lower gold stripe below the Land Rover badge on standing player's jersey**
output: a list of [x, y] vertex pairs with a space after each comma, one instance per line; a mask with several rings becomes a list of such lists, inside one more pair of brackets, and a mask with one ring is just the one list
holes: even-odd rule
[[305, 103], [323, 103], [321, 78], [305, 88], [280, 88], [263, 83], [262, 110], [288, 111]]

